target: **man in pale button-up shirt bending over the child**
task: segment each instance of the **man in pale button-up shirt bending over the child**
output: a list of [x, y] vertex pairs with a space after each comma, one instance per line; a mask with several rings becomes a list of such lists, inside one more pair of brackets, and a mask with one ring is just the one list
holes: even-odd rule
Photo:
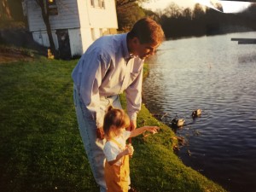
[[143, 62], [164, 39], [164, 32], [154, 20], [138, 20], [131, 32], [98, 38], [85, 51], [73, 69], [74, 104], [79, 131], [90, 162], [91, 171], [106, 191], [101, 133], [109, 105], [121, 108], [119, 94], [125, 91], [130, 129], [137, 127], [141, 108]]

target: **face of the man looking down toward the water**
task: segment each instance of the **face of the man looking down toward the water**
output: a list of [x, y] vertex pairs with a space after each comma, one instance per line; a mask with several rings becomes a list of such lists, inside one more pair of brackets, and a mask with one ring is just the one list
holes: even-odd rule
[[139, 40], [135, 44], [134, 55], [137, 55], [141, 59], [146, 59], [149, 55], [154, 55], [155, 50], [159, 47], [160, 44], [148, 43], [140, 44]]

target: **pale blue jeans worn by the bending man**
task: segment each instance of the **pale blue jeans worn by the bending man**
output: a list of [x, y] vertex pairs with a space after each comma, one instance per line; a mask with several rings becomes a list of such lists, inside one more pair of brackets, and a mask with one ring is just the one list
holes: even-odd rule
[[[79, 123], [80, 135], [90, 163], [91, 172], [93, 173], [96, 183], [100, 186], [100, 191], [106, 192], [107, 188], [104, 179], [105, 155], [103, 154], [103, 147], [106, 141], [105, 139], [100, 140], [96, 138], [96, 121], [92, 118], [88, 109], [85, 108], [79, 90], [75, 85], [73, 89], [73, 101]], [[122, 108], [119, 102], [119, 96], [102, 96], [99, 104], [103, 111], [106, 111], [109, 105], [112, 105], [113, 108]]]

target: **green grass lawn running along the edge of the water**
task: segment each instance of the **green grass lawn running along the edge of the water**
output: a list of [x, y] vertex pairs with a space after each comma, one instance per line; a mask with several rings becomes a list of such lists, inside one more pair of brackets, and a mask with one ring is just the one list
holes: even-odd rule
[[[77, 61], [38, 57], [0, 64], [0, 191], [99, 191], [79, 135], [71, 72]], [[125, 99], [122, 96], [125, 106]], [[138, 126], [160, 133], [132, 139], [132, 185], [141, 192], [225, 191], [184, 166], [172, 130], [143, 106]]]

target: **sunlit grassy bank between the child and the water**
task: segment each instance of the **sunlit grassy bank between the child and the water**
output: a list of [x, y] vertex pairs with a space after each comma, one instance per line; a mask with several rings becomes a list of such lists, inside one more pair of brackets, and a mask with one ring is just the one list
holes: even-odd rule
[[[148, 73], [148, 65], [144, 64], [143, 79], [148, 77]], [[121, 102], [125, 108], [125, 96], [121, 96]], [[183, 164], [173, 150], [178, 143], [176, 134], [172, 131], [171, 127], [156, 119], [152, 113], [150, 113], [148, 108], [146, 108], [144, 103], [137, 116], [137, 127], [143, 125], [160, 126], [160, 132], [155, 135], [146, 134], [133, 139], [132, 143], [135, 147], [135, 154], [131, 159], [131, 183], [134, 184], [136, 189], [141, 192], [227, 191], [218, 183], [214, 183], [201, 173], [196, 172], [194, 169]], [[153, 157], [147, 158], [148, 154], [151, 154]], [[148, 172], [145, 172], [143, 171], [143, 167], [151, 168], [148, 168]], [[153, 182], [150, 176], [157, 177], [158, 183]], [[148, 183], [152, 183], [151, 189], [148, 186]], [[161, 189], [159, 183], [162, 185]]]

